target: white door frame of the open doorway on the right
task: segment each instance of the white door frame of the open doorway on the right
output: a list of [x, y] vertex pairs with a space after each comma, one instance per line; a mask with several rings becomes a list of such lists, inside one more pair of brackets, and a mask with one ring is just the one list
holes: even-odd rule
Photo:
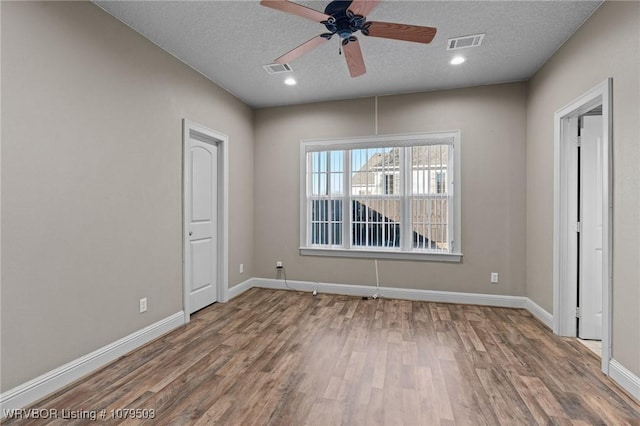
[[576, 241], [577, 154], [570, 140], [569, 122], [602, 105], [602, 372], [609, 374], [611, 359], [611, 289], [613, 229], [612, 88], [606, 79], [574, 99], [554, 115], [554, 218], [553, 218], [553, 332], [576, 337], [578, 294]]

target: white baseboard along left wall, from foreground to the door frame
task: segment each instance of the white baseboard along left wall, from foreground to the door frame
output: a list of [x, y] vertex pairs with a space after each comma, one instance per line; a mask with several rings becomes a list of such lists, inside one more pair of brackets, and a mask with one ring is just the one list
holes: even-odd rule
[[0, 395], [0, 417], [5, 410], [24, 408], [184, 323], [184, 312], [177, 312], [4, 392]]

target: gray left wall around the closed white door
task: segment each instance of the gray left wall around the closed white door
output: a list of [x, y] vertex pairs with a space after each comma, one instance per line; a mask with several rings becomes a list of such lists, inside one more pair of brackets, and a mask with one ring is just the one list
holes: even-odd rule
[[253, 112], [90, 3], [1, 7], [6, 391], [182, 309], [182, 118], [229, 136], [254, 275]]

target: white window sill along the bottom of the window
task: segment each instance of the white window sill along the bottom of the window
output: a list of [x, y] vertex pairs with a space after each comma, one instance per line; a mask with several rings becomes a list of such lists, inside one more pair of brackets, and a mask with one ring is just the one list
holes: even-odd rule
[[365, 259], [421, 260], [431, 262], [462, 262], [462, 253], [421, 253], [390, 250], [346, 250], [300, 247], [302, 256], [352, 257]]

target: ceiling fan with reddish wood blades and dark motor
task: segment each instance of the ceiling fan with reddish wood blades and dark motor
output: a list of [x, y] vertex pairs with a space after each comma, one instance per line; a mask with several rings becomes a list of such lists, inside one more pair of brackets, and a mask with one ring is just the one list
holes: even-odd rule
[[331, 37], [337, 34], [342, 39], [341, 46], [347, 61], [349, 74], [351, 74], [351, 77], [358, 77], [367, 72], [360, 44], [354, 35], [358, 31], [370, 37], [431, 43], [431, 40], [436, 35], [435, 28], [367, 21], [367, 15], [379, 2], [380, 0], [336, 0], [329, 3], [324, 9], [324, 13], [322, 13], [289, 0], [262, 0], [260, 4], [263, 6], [319, 22], [329, 31], [302, 43], [277, 58], [274, 62], [277, 64], [289, 63], [329, 41]]

